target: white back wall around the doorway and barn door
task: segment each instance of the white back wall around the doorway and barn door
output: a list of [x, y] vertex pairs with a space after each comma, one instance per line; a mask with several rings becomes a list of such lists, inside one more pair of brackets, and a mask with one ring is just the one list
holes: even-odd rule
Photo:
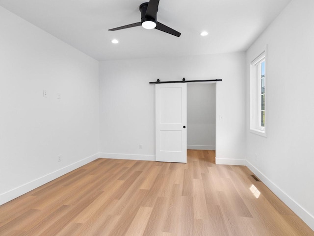
[[[155, 85], [218, 79], [217, 163], [245, 163], [245, 53], [100, 62], [101, 157], [155, 159]], [[143, 144], [143, 149], [139, 149]], [[140, 156], [142, 155], [142, 156]]]

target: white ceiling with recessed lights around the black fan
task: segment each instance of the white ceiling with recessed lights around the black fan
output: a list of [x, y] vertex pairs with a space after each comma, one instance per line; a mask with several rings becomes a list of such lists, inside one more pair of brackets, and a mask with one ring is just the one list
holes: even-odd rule
[[[0, 6], [97, 60], [245, 51], [290, 0], [160, 0], [157, 20], [178, 38], [141, 26], [145, 0], [0, 0]], [[201, 31], [209, 32], [200, 36]], [[119, 44], [112, 44], [113, 38]]]

